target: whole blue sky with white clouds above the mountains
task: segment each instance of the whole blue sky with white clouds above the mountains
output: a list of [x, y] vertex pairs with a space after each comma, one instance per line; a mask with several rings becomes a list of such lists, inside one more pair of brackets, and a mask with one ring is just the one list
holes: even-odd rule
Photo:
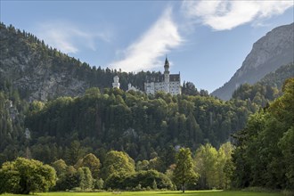
[[266, 32], [293, 22], [293, 1], [8, 1], [1, 21], [91, 66], [163, 70], [209, 93]]

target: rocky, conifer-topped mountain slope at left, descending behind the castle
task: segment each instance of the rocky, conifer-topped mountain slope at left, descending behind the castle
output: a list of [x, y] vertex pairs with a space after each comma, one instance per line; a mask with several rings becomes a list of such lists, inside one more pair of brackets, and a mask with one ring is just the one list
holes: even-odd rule
[[78, 96], [95, 86], [111, 87], [118, 75], [120, 87], [128, 83], [143, 90], [146, 78], [156, 78], [159, 72], [127, 73], [116, 69], [90, 66], [69, 57], [39, 40], [34, 35], [12, 25], [0, 24], [0, 80], [10, 83], [26, 100], [52, 100], [59, 96]]

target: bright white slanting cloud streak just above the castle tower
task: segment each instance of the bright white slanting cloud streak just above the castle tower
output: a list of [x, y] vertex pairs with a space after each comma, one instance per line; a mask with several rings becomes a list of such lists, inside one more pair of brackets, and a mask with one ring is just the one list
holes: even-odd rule
[[162, 66], [159, 57], [184, 41], [171, 18], [171, 13], [172, 9], [167, 8], [143, 37], [123, 51], [122, 60], [110, 63], [110, 67], [124, 71], [138, 71]]

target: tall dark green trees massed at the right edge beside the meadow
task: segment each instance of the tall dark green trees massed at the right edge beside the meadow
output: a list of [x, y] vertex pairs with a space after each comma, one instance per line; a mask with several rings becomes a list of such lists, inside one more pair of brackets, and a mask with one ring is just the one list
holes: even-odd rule
[[294, 190], [294, 78], [235, 135], [233, 185]]

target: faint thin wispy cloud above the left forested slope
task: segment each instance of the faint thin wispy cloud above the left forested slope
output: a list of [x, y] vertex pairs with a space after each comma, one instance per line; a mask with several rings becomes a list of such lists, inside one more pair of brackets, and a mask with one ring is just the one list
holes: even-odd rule
[[36, 34], [63, 53], [78, 53], [81, 47], [95, 51], [96, 39], [110, 42], [110, 32], [93, 33], [82, 29], [68, 21], [51, 21], [38, 25]]

